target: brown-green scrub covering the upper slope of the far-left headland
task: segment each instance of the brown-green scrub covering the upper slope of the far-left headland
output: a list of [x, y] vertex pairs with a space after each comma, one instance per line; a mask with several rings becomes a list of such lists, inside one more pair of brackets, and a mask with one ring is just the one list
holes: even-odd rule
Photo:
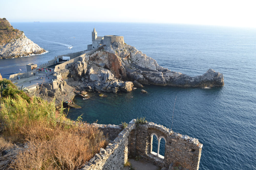
[[14, 29], [6, 18], [0, 18], [0, 48], [15, 39], [20, 38], [22, 33], [23, 31]]

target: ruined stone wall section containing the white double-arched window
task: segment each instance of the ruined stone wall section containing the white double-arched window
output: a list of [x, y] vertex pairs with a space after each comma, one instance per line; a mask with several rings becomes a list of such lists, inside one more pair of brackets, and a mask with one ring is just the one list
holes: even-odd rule
[[[165, 140], [165, 154], [156, 155], [152, 152], [152, 139]], [[143, 159], [160, 167], [181, 165], [186, 169], [198, 169], [202, 144], [198, 139], [174, 133], [168, 128], [148, 122], [136, 129], [136, 151]]]

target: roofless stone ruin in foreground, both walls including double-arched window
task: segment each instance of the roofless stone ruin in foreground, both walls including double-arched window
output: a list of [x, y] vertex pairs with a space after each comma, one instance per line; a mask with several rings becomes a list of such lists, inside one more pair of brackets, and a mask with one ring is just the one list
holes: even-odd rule
[[[121, 130], [120, 125], [94, 125], [101, 128], [104, 134], [111, 134], [112, 137]], [[156, 135], [160, 141], [166, 140], [164, 157], [152, 152], [152, 134]], [[182, 166], [185, 169], [198, 170], [201, 150], [202, 144], [195, 138], [174, 133], [153, 122], [137, 126], [133, 119], [106, 149], [101, 148], [100, 153], [95, 154], [82, 169], [121, 169], [130, 154], [131, 156], [139, 155], [143, 160], [159, 167], [176, 169]]]

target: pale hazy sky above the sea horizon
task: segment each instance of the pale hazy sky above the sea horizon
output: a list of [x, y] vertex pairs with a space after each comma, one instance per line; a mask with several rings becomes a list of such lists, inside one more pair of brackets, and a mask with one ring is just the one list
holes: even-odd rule
[[0, 5], [0, 18], [10, 22], [156, 22], [256, 28], [255, 0], [1, 0]]

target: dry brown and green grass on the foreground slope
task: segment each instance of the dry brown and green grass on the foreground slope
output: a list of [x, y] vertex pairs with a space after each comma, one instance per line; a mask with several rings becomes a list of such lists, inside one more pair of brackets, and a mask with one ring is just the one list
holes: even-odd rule
[[[78, 169], [108, 145], [98, 127], [81, 121], [74, 124], [65, 117], [63, 108], [55, 110], [54, 103], [34, 97], [28, 104], [16, 96], [6, 98], [1, 107], [7, 131], [0, 138], [0, 151], [14, 150], [11, 156], [0, 156], [0, 169], [6, 163], [10, 169]], [[59, 123], [63, 121], [68, 124]], [[27, 149], [12, 144], [18, 142]]]

